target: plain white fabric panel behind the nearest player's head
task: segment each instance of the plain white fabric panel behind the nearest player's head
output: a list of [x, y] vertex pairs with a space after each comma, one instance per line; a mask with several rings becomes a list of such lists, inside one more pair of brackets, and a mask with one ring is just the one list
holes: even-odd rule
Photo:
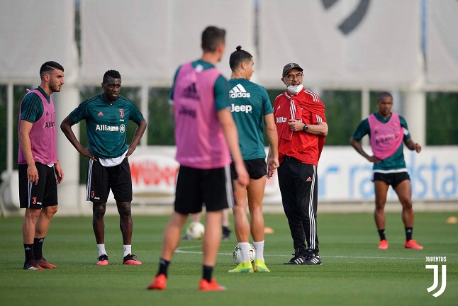
[[237, 45], [254, 52], [254, 9], [252, 0], [82, 0], [82, 79], [100, 81], [116, 69], [123, 81], [170, 86], [179, 64], [201, 56], [210, 25], [226, 30], [220, 69], [230, 77], [230, 52]]

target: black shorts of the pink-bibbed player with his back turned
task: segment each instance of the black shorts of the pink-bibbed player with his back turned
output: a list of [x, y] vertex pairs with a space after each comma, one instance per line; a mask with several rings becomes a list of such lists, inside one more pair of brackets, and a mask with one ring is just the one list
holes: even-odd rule
[[183, 215], [232, 208], [233, 188], [229, 166], [217, 169], [195, 169], [180, 166], [175, 194], [175, 211]]

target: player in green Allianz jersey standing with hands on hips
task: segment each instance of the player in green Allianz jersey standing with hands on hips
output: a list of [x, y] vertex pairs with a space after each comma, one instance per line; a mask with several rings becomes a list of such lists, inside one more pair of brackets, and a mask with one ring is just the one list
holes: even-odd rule
[[[108, 70], [101, 84], [103, 94], [87, 98], [62, 121], [60, 128], [69, 142], [84, 157], [89, 157], [86, 200], [93, 203], [92, 226], [99, 249], [98, 265], [108, 265], [105, 250], [104, 215], [110, 189], [113, 192], [123, 234], [123, 264], [141, 264], [132, 254], [132, 179], [128, 157], [146, 130], [146, 121], [135, 104], [119, 96], [121, 74]], [[84, 148], [72, 131], [72, 125], [86, 120], [89, 147]], [[126, 143], [128, 120], [138, 125], [130, 145]]]

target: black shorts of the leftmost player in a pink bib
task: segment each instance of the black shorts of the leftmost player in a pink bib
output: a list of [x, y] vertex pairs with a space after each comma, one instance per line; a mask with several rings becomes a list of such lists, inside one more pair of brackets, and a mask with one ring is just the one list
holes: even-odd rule
[[54, 166], [35, 162], [38, 170], [38, 184], [27, 177], [27, 164], [18, 165], [19, 207], [44, 208], [57, 205], [57, 181]]

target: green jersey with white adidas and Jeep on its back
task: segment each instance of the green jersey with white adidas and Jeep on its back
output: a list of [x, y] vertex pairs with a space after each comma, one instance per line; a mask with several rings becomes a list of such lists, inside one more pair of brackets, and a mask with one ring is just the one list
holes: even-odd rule
[[246, 79], [230, 79], [228, 83], [242, 157], [244, 160], [265, 158], [264, 116], [274, 113], [269, 95], [264, 87]]

